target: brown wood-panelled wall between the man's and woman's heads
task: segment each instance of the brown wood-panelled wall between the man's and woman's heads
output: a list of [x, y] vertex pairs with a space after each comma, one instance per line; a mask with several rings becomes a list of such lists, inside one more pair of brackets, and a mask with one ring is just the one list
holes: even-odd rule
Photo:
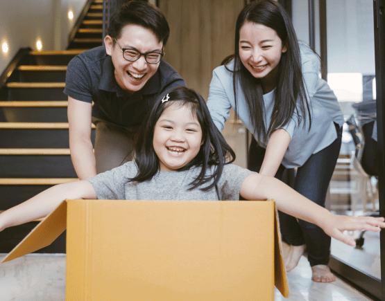
[[243, 0], [160, 0], [159, 7], [171, 30], [164, 60], [207, 99], [212, 71], [234, 53]]

